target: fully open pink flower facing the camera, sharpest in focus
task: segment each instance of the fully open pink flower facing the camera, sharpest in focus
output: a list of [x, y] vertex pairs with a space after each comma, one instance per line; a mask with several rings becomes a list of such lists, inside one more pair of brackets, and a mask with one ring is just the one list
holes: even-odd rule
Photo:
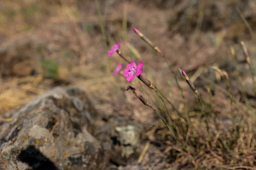
[[134, 79], [135, 76], [139, 76], [143, 72], [143, 62], [139, 62], [136, 66], [135, 62], [131, 62], [126, 66], [123, 76], [126, 77], [126, 80], [130, 82]]

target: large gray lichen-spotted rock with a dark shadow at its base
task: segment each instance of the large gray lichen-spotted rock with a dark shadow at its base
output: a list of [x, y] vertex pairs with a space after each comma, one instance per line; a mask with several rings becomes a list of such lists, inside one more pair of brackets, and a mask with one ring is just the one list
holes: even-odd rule
[[108, 167], [111, 147], [93, 136], [99, 114], [78, 88], [55, 88], [6, 116], [14, 121], [0, 122], [1, 170]]

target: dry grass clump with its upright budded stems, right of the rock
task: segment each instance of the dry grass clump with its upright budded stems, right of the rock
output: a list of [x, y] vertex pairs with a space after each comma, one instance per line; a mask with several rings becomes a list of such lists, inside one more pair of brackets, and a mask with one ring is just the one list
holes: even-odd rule
[[[100, 16], [100, 12], [98, 14]], [[99, 17], [99, 21], [100, 23], [102, 22], [101, 17]], [[103, 39], [105, 40], [102, 24], [101, 28]], [[199, 94], [185, 71], [179, 69], [180, 76], [187, 82], [195, 95], [195, 98], [198, 100], [198, 111], [195, 112], [190, 110], [186, 105], [186, 98], [184, 96], [184, 91], [179, 84], [176, 75], [177, 73], [172, 69], [163, 52], [140, 31], [135, 28], [134, 31], [142, 40], [150, 45], [154, 51], [160, 54], [163, 60], [167, 63], [169, 70], [175, 79], [177, 88], [180, 91], [181, 99], [183, 99], [180, 103], [183, 104], [184, 107], [183, 110], [180, 111], [161, 93], [160, 89], [154, 85], [151, 79], [144, 77], [142, 74], [137, 76], [139, 81], [143, 82], [146, 87], [157, 94], [162, 102], [162, 104], [159, 103], [156, 105], [157, 109], [143, 97], [140, 91], [138, 91], [138, 88], [128, 85], [126, 89], [127, 91], [132, 91], [144, 105], [150, 107], [157, 114], [158, 118], [160, 118], [160, 122], [166, 126], [166, 133], [163, 140], [168, 143], [165, 153], [169, 155], [169, 161], [173, 162], [177, 168], [253, 169], [256, 166], [256, 159], [254, 157], [256, 154], [256, 133], [253, 130], [255, 128], [255, 115], [252, 113], [253, 108], [247, 103], [247, 96], [241, 83], [236, 54], [233, 48], [230, 47], [230, 51], [234, 62], [236, 63], [237, 76], [239, 77], [241, 85], [240, 91], [243, 94], [244, 102], [236, 100], [236, 95], [231, 91], [230, 79], [226, 71], [221, 70], [216, 66], [208, 68], [213, 69], [215, 74], [224, 79], [226, 84], [227, 93], [225, 93], [225, 96], [227, 97], [227, 100], [230, 100], [230, 105], [227, 106], [230, 108], [230, 113], [227, 113], [227, 117], [230, 117], [230, 121], [232, 122], [231, 125], [227, 126], [224, 125], [221, 118], [216, 116], [212, 109], [212, 88], [214, 88], [214, 86], [207, 86], [208, 99], [210, 99], [209, 102], [209, 100], [205, 100], [204, 97]], [[137, 49], [130, 43], [126, 42], [126, 45], [137, 58], [146, 60], [146, 58], [140, 56]], [[251, 71], [253, 91], [255, 93], [254, 75], [244, 42], [241, 42], [241, 47]], [[124, 55], [121, 51], [117, 50], [116, 52], [128, 64], [133, 62], [130, 57]], [[164, 106], [164, 109], [161, 105]], [[210, 109], [206, 110], [205, 105], [209, 106]]]

